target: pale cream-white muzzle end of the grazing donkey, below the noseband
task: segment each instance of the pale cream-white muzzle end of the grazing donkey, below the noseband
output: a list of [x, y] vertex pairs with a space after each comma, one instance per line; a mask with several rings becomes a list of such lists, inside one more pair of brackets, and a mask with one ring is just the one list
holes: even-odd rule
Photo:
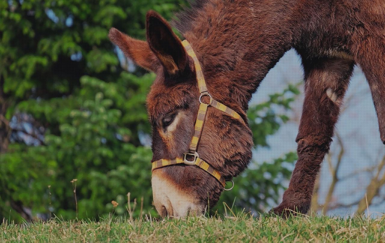
[[162, 170], [154, 170], [151, 184], [154, 205], [162, 217], [183, 218], [201, 215], [204, 212], [198, 198], [181, 190], [174, 182], [164, 176]]

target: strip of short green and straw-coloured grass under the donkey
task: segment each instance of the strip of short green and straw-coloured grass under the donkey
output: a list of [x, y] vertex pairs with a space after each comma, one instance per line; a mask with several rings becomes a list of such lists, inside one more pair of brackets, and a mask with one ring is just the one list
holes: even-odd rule
[[0, 225], [0, 242], [385, 242], [385, 216], [360, 217], [192, 217]]

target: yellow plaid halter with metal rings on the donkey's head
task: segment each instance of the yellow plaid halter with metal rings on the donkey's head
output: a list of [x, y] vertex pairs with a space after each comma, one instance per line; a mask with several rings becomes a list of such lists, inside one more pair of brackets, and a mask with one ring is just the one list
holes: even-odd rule
[[[215, 177], [221, 183], [221, 185], [224, 187], [226, 185], [226, 180], [222, 175], [218, 172], [218, 170], [214, 169], [211, 165], [209, 165], [206, 161], [201, 159], [198, 154], [198, 142], [202, 135], [202, 130], [204, 126], [204, 120], [206, 118], [207, 108], [209, 106], [214, 107], [218, 109], [219, 111], [222, 111], [226, 113], [227, 115], [238, 119], [242, 123], [245, 123], [241, 116], [237, 112], [235, 112], [233, 109], [230, 109], [229, 107], [225, 106], [224, 104], [214, 100], [211, 95], [208, 93], [206, 82], [204, 81], [204, 76], [202, 73], [201, 65], [199, 64], [198, 58], [196, 57], [194, 50], [192, 50], [192, 47], [190, 43], [187, 40], [182, 41], [182, 45], [184, 46], [187, 54], [191, 56], [192, 60], [194, 60], [194, 66], [195, 66], [195, 72], [196, 72], [196, 80], [198, 82], [198, 89], [199, 89], [199, 109], [198, 109], [198, 116], [196, 118], [195, 122], [195, 131], [194, 135], [192, 136], [191, 143], [189, 146], [188, 152], [183, 154], [183, 157], [176, 157], [175, 159], [159, 159], [154, 162], [152, 162], [152, 171], [159, 169], [161, 167], [169, 166], [169, 165], [176, 165], [176, 164], [186, 164], [186, 165], [196, 165], [200, 167], [201, 169], [208, 172], [210, 175]], [[205, 104], [202, 102], [202, 97], [208, 96], [210, 98], [209, 104]], [[187, 156], [193, 157], [192, 160], [187, 160]], [[234, 186], [234, 182], [233, 182]], [[233, 187], [231, 187], [233, 188]], [[230, 189], [224, 189], [224, 190], [231, 190]]]

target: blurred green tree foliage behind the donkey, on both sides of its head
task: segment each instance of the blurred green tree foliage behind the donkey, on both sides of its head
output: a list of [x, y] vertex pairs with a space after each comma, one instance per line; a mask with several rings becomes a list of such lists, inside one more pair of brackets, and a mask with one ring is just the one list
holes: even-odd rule
[[[183, 4], [0, 1], [0, 219], [45, 219], [52, 213], [98, 219], [112, 211], [124, 216], [127, 192], [143, 197], [145, 213], [155, 213], [151, 150], [143, 146], [150, 131], [145, 99], [154, 74], [133, 66], [107, 33], [114, 26], [144, 39], [147, 10], [169, 19]], [[288, 92], [298, 90], [290, 86], [251, 107], [256, 145], [266, 146], [266, 136], [287, 121], [271, 106], [289, 109]], [[260, 204], [278, 197], [282, 185], [276, 178], [290, 175], [283, 163], [294, 160], [288, 154], [247, 170], [224, 200], [241, 193], [237, 205], [261, 210]]]

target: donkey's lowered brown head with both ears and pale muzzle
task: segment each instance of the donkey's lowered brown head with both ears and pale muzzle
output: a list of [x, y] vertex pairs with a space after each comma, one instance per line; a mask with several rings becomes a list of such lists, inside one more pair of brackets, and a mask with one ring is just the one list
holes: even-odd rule
[[[152, 162], [182, 158], [189, 151], [196, 130], [200, 99], [206, 104], [211, 99], [208, 95], [200, 97], [194, 60], [167, 21], [150, 11], [146, 29], [147, 41], [135, 40], [115, 28], [110, 30], [109, 38], [136, 64], [157, 74], [147, 96]], [[199, 53], [198, 58], [204, 60], [204, 53]], [[221, 87], [210, 85], [211, 77], [205, 78], [212, 98], [219, 97], [226, 106], [231, 104], [231, 109], [246, 120], [241, 106], [234, 100], [221, 100]], [[241, 119], [210, 106], [206, 112], [196, 152], [222, 179], [238, 175], [251, 159], [252, 134]], [[155, 169], [152, 172], [155, 207], [162, 216], [203, 213], [208, 203], [212, 206], [218, 201], [224, 189], [217, 179], [208, 170], [183, 163]]]

